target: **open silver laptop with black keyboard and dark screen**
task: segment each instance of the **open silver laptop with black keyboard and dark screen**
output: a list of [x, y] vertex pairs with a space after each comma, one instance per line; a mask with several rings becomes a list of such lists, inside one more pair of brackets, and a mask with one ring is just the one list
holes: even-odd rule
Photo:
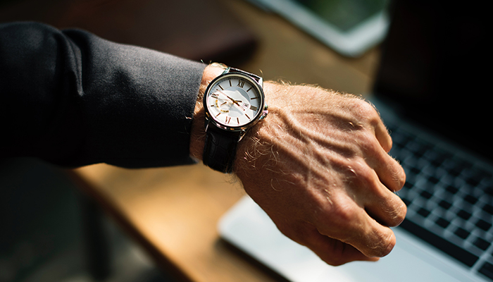
[[397, 245], [378, 262], [329, 266], [244, 197], [218, 224], [221, 237], [288, 281], [493, 281], [488, 10], [480, 1], [391, 5], [370, 101], [407, 176]]

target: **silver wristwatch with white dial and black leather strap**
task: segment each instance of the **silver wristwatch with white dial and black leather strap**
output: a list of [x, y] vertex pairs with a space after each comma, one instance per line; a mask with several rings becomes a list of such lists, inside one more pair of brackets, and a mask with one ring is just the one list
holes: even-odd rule
[[231, 173], [237, 145], [246, 130], [268, 114], [263, 79], [237, 68], [226, 68], [211, 81], [204, 94], [206, 166]]

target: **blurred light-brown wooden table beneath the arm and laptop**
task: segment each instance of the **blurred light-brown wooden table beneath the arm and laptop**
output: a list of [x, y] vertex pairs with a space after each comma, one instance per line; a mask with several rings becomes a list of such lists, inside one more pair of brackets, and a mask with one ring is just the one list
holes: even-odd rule
[[[242, 0], [220, 0], [258, 37], [243, 66], [268, 80], [317, 84], [342, 92], [370, 91], [378, 51], [339, 56], [282, 18]], [[198, 164], [128, 170], [98, 164], [69, 171], [130, 233], [156, 264], [179, 280], [280, 281], [218, 237], [216, 224], [244, 191], [230, 176]]]

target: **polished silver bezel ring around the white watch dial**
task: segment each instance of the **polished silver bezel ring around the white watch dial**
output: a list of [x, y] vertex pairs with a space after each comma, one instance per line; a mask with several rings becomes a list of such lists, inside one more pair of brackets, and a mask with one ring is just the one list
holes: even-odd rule
[[[225, 125], [225, 124], [221, 123], [220, 121], [216, 121], [216, 119], [214, 119], [213, 116], [211, 116], [211, 113], [208, 110], [207, 100], [208, 100], [208, 93], [211, 91], [211, 87], [213, 85], [215, 85], [216, 82], [218, 82], [218, 80], [223, 80], [223, 79], [226, 79], [228, 77], [236, 77], [236, 78], [239, 77], [239, 78], [242, 78], [244, 80], [248, 80], [249, 82], [251, 82], [251, 85], [254, 85], [254, 87], [256, 87], [257, 92], [260, 94], [261, 103], [259, 105], [259, 108], [258, 108], [259, 110], [258, 110], [257, 114], [254, 116], [254, 118], [251, 119], [251, 121], [249, 123], [246, 123], [244, 125], [240, 125], [240, 126]], [[261, 120], [263, 112], [265, 111], [265, 108], [266, 108], [266, 97], [263, 94], [263, 87], [254, 78], [252, 78], [251, 76], [246, 75], [244, 73], [229, 72], [229, 73], [223, 73], [223, 74], [219, 75], [218, 77], [214, 78], [207, 85], [206, 92], [204, 93], [203, 104], [204, 104], [204, 109], [205, 109], [205, 113], [206, 113], [206, 127], [208, 126], [208, 123], [212, 123], [217, 128], [220, 128], [223, 130], [242, 131], [242, 130], [246, 130], [248, 128], [251, 128], [256, 123], [258, 123], [258, 121]]]

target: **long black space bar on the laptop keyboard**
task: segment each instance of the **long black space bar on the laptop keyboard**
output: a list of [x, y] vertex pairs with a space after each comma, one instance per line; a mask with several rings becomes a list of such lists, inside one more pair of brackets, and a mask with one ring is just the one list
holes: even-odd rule
[[436, 247], [438, 250], [454, 257], [454, 259], [457, 259], [458, 262], [461, 262], [466, 266], [473, 266], [473, 264], [475, 264], [475, 262], [479, 259], [478, 256], [464, 250], [454, 243], [445, 240], [435, 233], [432, 233], [428, 229], [409, 221], [408, 219], [404, 219], [400, 226], [411, 234], [416, 235], [418, 238], [425, 240], [425, 242], [429, 243], [433, 247]]

